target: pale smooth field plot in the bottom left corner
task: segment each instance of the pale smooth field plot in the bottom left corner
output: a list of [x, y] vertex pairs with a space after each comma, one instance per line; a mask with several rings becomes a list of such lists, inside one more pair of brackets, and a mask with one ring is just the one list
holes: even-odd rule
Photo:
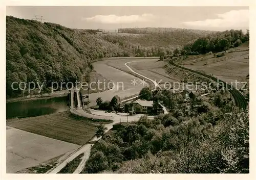
[[[53, 160], [53, 158], [69, 151], [73, 151], [78, 147], [79, 145], [77, 144], [40, 136], [7, 126], [6, 172], [45, 172], [54, 165], [56, 159]], [[52, 159], [52, 162], [48, 162], [47, 164], [40, 165], [38, 167], [40, 163], [46, 162], [50, 159]]]

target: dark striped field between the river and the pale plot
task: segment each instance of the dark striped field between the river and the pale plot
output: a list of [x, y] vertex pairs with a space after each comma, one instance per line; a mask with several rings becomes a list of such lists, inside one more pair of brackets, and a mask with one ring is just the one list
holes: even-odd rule
[[88, 142], [96, 131], [96, 125], [87, 118], [74, 116], [70, 112], [11, 120], [7, 125], [78, 145]]

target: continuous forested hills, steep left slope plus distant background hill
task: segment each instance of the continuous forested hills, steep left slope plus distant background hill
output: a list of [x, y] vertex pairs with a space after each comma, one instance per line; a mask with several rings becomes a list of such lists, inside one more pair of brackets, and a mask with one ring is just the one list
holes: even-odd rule
[[[200, 31], [204, 32], [204, 31]], [[209, 33], [206, 32], [205, 33]], [[145, 36], [98, 34], [54, 23], [6, 17], [7, 98], [20, 96], [12, 82], [75, 82], [92, 60], [121, 56], [172, 55], [173, 49], [201, 37], [189, 30]], [[17, 84], [14, 85], [17, 88]]]

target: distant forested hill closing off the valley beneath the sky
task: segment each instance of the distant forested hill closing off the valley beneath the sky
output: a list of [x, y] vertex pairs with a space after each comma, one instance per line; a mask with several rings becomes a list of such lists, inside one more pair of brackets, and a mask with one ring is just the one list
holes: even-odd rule
[[175, 48], [181, 48], [191, 40], [210, 35], [212, 31], [178, 28], [126, 28], [120, 34], [106, 34], [106, 41], [119, 44], [123, 56], [172, 56]]

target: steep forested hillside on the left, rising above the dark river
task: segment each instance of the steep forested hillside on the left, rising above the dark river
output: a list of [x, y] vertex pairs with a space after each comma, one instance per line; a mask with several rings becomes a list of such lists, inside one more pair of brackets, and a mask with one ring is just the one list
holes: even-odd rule
[[[87, 32], [53, 23], [41, 23], [7, 16], [6, 85], [7, 97], [20, 95], [12, 82], [75, 82], [88, 62], [120, 56], [117, 45]], [[14, 86], [14, 88], [16, 88]]]

